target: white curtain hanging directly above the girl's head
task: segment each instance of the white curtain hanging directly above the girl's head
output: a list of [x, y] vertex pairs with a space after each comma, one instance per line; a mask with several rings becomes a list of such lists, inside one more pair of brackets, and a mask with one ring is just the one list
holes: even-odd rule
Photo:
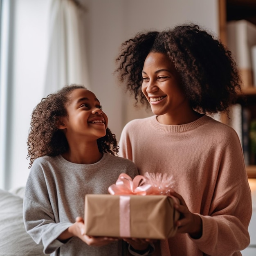
[[52, 0], [44, 96], [77, 83], [90, 90], [84, 9], [74, 0]]

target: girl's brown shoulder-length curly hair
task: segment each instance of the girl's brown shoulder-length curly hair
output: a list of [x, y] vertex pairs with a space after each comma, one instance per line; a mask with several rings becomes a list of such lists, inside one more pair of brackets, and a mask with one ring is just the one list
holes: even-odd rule
[[[31, 114], [31, 127], [27, 139], [29, 168], [34, 160], [44, 155], [56, 156], [69, 148], [64, 133], [56, 126], [60, 117], [67, 116], [66, 106], [70, 101], [69, 95], [75, 89], [86, 89], [83, 85], [67, 85], [53, 94], [43, 98]], [[100, 152], [117, 155], [119, 146], [115, 134], [109, 128], [106, 135], [97, 139]]]

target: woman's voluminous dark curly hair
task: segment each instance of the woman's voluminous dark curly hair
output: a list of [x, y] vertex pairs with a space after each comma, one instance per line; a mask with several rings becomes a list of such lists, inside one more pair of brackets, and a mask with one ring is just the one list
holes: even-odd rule
[[206, 30], [185, 24], [164, 31], [138, 33], [126, 40], [116, 58], [117, 78], [134, 94], [135, 105], [148, 103], [141, 91], [149, 52], [164, 53], [180, 74], [181, 87], [193, 109], [204, 114], [229, 112], [241, 92], [241, 79], [231, 52]]

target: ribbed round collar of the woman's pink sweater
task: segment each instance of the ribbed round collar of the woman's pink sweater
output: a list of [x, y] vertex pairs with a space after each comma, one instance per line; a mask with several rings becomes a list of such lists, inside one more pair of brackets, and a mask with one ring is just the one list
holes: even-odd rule
[[188, 123], [188, 124], [180, 124], [180, 125], [167, 125], [167, 124], [160, 124], [157, 121], [157, 116], [153, 116], [150, 118], [150, 125], [156, 129], [160, 130], [162, 132], [186, 132], [189, 130], [193, 130], [199, 126], [202, 126], [203, 124], [207, 123], [211, 117], [208, 117], [207, 115], [203, 115], [202, 117], [198, 118], [197, 120]]

